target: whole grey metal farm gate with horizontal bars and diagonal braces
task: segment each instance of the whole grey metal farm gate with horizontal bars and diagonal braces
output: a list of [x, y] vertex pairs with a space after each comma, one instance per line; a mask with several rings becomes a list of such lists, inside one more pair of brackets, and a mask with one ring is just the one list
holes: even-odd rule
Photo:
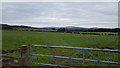
[[[78, 52], [76, 52], [75, 54], [73, 54], [70, 57], [64, 57], [64, 56], [53, 56], [53, 55], [41, 55], [41, 54], [32, 54], [33, 47], [50, 47], [50, 48], [67, 48], [67, 49], [79, 49]], [[80, 47], [65, 47], [65, 46], [47, 46], [47, 45], [31, 45], [30, 46], [30, 65], [32, 67], [33, 64], [40, 64], [40, 65], [48, 65], [48, 66], [59, 66], [59, 67], [69, 67], [69, 66], [63, 66], [61, 64], [63, 64], [64, 62], [68, 61], [69, 59], [73, 59], [73, 60], [82, 60], [82, 66], [84, 67], [85, 61], [93, 61], [93, 62], [99, 62], [101, 63], [103, 66], [107, 66], [105, 63], [109, 63], [109, 64], [120, 64], [120, 62], [112, 62], [112, 61], [102, 61], [100, 59], [98, 59], [96, 56], [94, 56], [91, 52], [89, 52], [88, 50], [92, 50], [92, 51], [103, 51], [103, 52], [115, 52], [115, 53], [120, 53], [120, 50], [111, 50], [111, 49], [94, 49], [94, 48], [80, 48]], [[82, 58], [73, 58], [75, 55], [79, 54], [80, 52], [83, 53]], [[85, 54], [84, 53], [88, 53], [89, 55], [91, 55], [95, 60], [93, 59], [85, 59]], [[54, 57], [54, 58], [64, 58], [66, 60], [60, 62], [57, 65], [54, 64], [44, 64], [44, 63], [36, 63], [33, 62], [33, 58], [32, 56], [46, 56], [46, 57]]]

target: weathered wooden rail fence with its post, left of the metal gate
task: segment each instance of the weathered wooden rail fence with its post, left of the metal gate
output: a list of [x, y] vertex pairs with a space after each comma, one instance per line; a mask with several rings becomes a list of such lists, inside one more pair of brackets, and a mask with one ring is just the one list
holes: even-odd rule
[[[2, 49], [2, 55], [8, 53], [20, 53], [21, 57], [11, 57], [11, 56], [2, 56], [2, 66], [14, 66], [13, 63], [19, 63], [21, 66], [28, 66], [28, 54], [27, 54], [27, 46], [22, 45], [21, 48], [18, 49]], [[19, 65], [19, 66], [20, 66]]]

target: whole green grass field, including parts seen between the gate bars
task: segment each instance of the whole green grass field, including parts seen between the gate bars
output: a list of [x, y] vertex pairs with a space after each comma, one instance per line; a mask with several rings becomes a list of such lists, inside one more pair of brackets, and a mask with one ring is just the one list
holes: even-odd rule
[[[71, 33], [59, 33], [59, 32], [31, 32], [31, 31], [3, 31], [2, 32], [2, 47], [3, 49], [18, 48], [21, 45], [55, 45], [55, 46], [72, 46], [72, 47], [89, 47], [89, 48], [102, 48], [102, 49], [118, 49], [118, 36], [109, 35], [82, 35]], [[72, 49], [51, 49], [51, 48], [33, 48], [34, 53], [38, 54], [52, 54], [60, 56], [70, 56], [78, 50]], [[118, 54], [93, 52], [96, 56], [102, 60], [118, 61]], [[81, 57], [78, 54], [75, 57]], [[86, 58], [91, 58], [86, 54]], [[109, 58], [108, 58], [109, 57]], [[47, 58], [33, 56], [36, 62], [54, 63], [62, 61], [63, 59]], [[37, 59], [37, 60], [36, 60]], [[40, 61], [38, 61], [40, 60]], [[65, 65], [81, 66], [82, 61], [71, 60], [65, 63]], [[87, 66], [101, 65], [95, 62], [87, 62]]]

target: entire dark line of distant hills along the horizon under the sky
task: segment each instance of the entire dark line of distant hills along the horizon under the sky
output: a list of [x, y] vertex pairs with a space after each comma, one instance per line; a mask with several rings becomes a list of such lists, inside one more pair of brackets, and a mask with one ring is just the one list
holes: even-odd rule
[[37, 27], [31, 27], [31, 26], [24, 26], [24, 25], [8, 25], [8, 24], [0, 24], [0, 29], [6, 30], [6, 29], [15, 29], [15, 28], [31, 28], [31, 29], [59, 29], [59, 28], [65, 28], [68, 30], [74, 30], [74, 31], [88, 31], [88, 32], [120, 32], [120, 28], [84, 28], [84, 27], [75, 27], [75, 26], [67, 26], [67, 27], [43, 27], [43, 28], [37, 28]]

